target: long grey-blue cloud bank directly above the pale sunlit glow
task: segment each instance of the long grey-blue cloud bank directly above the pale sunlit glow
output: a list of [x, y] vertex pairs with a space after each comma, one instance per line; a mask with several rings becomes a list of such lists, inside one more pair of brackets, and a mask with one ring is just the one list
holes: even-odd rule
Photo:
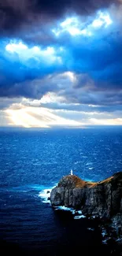
[[[80, 87], [78, 86], [79, 81]], [[64, 74], [54, 74], [42, 79], [16, 83], [13, 87], [9, 87], [9, 90], [6, 90], [6, 93], [2, 96], [31, 98], [31, 101], [22, 102], [22, 105], [43, 106], [48, 109], [65, 109], [79, 112], [113, 112], [122, 109], [122, 89], [97, 88], [94, 86], [94, 83], [91, 87], [88, 83], [88, 77], [87, 83], [83, 83], [81, 87], [81, 81], [81, 75], [76, 75], [75, 87], [67, 72]], [[49, 103], [36, 102], [35, 104], [33, 102], [32, 99], [40, 99], [49, 92], [54, 93], [54, 102], [52, 102], [52, 99]], [[48, 97], [50, 98], [50, 95]]]

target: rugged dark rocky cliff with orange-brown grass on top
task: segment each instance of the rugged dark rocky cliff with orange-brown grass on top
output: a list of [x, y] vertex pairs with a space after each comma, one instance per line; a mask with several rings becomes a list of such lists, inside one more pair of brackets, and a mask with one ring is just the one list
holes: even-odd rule
[[122, 235], [122, 172], [97, 183], [78, 176], [63, 176], [51, 191], [52, 206], [67, 206], [83, 214], [111, 220], [113, 228]]

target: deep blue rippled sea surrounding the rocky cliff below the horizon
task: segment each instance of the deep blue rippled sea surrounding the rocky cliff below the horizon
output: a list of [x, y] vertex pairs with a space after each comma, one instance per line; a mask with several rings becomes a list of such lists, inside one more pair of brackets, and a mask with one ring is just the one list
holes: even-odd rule
[[0, 245], [4, 252], [8, 247], [13, 253], [58, 255], [61, 250], [102, 247], [98, 224], [85, 218], [74, 220], [72, 213], [53, 210], [46, 203], [46, 189], [70, 169], [92, 181], [121, 171], [122, 128], [0, 131]]

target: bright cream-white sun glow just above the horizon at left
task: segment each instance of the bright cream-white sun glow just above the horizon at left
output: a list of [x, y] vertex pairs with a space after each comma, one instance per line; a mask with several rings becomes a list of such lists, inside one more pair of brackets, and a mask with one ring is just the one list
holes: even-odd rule
[[43, 107], [25, 107], [24, 109], [7, 109], [11, 124], [24, 128], [50, 128], [52, 125], [81, 126], [79, 121], [58, 117], [50, 109]]

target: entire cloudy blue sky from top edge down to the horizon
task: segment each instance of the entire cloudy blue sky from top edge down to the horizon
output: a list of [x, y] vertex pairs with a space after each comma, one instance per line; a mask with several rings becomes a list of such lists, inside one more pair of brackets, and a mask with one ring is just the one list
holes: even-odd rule
[[1, 0], [0, 17], [0, 126], [122, 124], [122, 0]]

